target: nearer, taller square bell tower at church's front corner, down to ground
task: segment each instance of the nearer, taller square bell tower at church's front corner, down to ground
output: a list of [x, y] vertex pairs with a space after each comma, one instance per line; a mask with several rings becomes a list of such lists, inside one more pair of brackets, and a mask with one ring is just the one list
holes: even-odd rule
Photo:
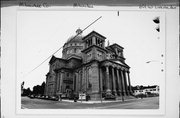
[[88, 76], [88, 82], [91, 85], [89, 91], [92, 99], [100, 99], [99, 62], [105, 59], [107, 52], [105, 49], [105, 39], [106, 37], [95, 31], [92, 31], [82, 39], [84, 42], [84, 50], [81, 51], [83, 63], [89, 68], [90, 71], [88, 72], [93, 73]]

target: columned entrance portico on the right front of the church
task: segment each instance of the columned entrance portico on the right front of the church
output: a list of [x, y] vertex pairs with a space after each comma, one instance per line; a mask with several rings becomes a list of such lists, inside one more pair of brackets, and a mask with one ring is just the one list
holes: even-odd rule
[[129, 96], [132, 95], [131, 82], [129, 78], [129, 67], [119, 65], [111, 61], [101, 63], [102, 75], [102, 92], [112, 94], [114, 96]]

